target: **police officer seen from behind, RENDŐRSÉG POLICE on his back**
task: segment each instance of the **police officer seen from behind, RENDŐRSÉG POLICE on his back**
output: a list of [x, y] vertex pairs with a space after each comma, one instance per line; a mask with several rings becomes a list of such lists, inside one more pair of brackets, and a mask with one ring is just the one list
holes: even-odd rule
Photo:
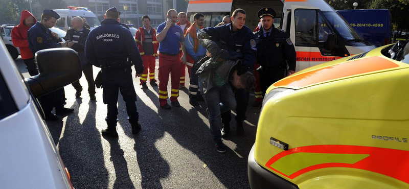
[[126, 104], [132, 133], [138, 133], [141, 125], [138, 123], [137, 94], [133, 88], [131, 66], [134, 65], [137, 72], [135, 77], [141, 77], [144, 67], [131, 32], [119, 23], [117, 8], [108, 9], [101, 26], [89, 33], [85, 42], [85, 56], [93, 65], [102, 68], [102, 97], [108, 107], [105, 119], [108, 127], [102, 130], [102, 135], [118, 137], [118, 89]]

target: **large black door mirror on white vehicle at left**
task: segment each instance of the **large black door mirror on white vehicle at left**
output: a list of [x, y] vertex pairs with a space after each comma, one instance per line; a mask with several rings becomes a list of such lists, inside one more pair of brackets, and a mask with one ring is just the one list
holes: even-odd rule
[[41, 50], [35, 54], [35, 60], [39, 74], [25, 79], [35, 98], [69, 85], [82, 76], [80, 59], [72, 49]]

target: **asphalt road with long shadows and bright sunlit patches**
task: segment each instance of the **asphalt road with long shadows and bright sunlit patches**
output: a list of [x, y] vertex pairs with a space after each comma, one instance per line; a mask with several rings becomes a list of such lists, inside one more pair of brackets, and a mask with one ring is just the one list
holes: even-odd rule
[[[21, 58], [16, 64], [24, 77], [30, 77]], [[94, 78], [99, 69], [94, 67]], [[72, 85], [65, 86], [65, 107], [74, 112], [60, 116], [61, 121], [47, 122], [75, 188], [249, 188], [247, 157], [260, 112], [260, 107], [251, 106], [254, 95], [249, 100], [244, 135], [236, 135], [233, 117], [231, 135], [223, 139], [227, 149], [221, 154], [211, 139], [206, 103], [191, 106], [187, 88], [179, 90], [181, 107], [165, 110], [158, 102], [158, 87], [148, 84], [149, 89], [143, 90], [134, 78], [142, 130], [132, 135], [120, 96], [119, 138], [112, 139], [101, 136], [107, 111], [103, 89], [96, 89], [97, 101], [89, 101], [84, 76], [80, 83], [81, 98], [75, 98]]]

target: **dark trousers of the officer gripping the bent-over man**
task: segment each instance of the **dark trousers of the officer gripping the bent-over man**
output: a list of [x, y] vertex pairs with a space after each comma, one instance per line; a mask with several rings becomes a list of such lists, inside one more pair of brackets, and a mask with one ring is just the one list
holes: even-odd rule
[[[236, 99], [236, 121], [242, 122], [247, 119], [246, 111], [248, 106], [248, 99], [250, 98], [250, 91], [244, 89], [233, 88], [234, 98]], [[232, 121], [231, 111], [221, 113], [221, 122], [223, 124], [230, 123]]]

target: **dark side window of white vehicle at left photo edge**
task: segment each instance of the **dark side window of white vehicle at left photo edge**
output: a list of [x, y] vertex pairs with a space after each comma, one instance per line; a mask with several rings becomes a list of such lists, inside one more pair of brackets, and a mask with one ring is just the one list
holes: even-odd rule
[[0, 120], [17, 112], [17, 107], [2, 75], [0, 75], [0, 104]]

